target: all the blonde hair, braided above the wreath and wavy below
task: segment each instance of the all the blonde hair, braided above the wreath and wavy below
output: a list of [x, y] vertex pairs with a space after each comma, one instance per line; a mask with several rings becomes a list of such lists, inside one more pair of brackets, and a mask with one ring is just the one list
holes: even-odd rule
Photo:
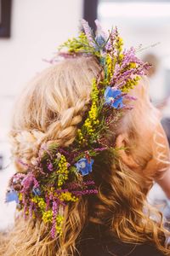
[[[77, 57], [59, 62], [37, 75], [17, 103], [11, 137], [13, 154], [24, 163], [34, 165], [43, 143], [57, 142], [69, 146], [76, 137], [77, 125], [88, 107], [92, 79], [101, 73], [94, 57]], [[147, 144], [139, 147], [140, 119], [144, 129], [156, 126], [144, 82], [139, 84], [139, 100], [133, 111], [126, 112], [113, 132], [127, 132], [129, 150], [136, 154], [139, 166], [145, 166], [153, 152]], [[132, 91], [133, 94], [133, 91]], [[145, 110], [147, 111], [146, 113]], [[152, 109], [153, 110], [153, 109]], [[150, 114], [152, 116], [150, 117]], [[143, 130], [144, 131], [144, 130]], [[94, 181], [98, 195], [82, 196], [65, 207], [63, 236], [52, 240], [48, 226], [39, 219], [24, 220], [20, 215], [13, 230], [2, 237], [0, 255], [74, 255], [77, 241], [88, 222], [107, 224], [113, 235], [122, 241], [143, 243], [150, 241], [164, 253], [164, 230], [161, 214], [157, 224], [150, 219], [150, 207], [145, 202], [144, 177], [130, 170], [116, 155], [102, 153], [94, 163]], [[117, 159], [117, 160], [116, 160]], [[17, 163], [20, 172], [20, 163]], [[22, 170], [24, 172], [24, 170]], [[148, 209], [144, 213], [145, 209]]]

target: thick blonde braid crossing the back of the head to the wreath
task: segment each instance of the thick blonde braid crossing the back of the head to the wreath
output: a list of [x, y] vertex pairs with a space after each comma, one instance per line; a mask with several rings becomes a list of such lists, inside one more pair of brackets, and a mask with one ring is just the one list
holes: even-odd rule
[[60, 119], [53, 121], [46, 132], [31, 130], [11, 132], [13, 154], [25, 164], [33, 164], [43, 143], [57, 143], [66, 147], [76, 137], [77, 125], [82, 121], [89, 100], [78, 100], [75, 106], [67, 108], [60, 114]]

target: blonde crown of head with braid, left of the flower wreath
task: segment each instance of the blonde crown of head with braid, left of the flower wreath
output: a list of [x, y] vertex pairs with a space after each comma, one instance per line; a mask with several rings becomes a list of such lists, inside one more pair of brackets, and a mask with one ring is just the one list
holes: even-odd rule
[[95, 58], [79, 57], [61, 61], [38, 74], [14, 110], [14, 155], [31, 163], [42, 142], [69, 146], [90, 101], [92, 79], [100, 71]]

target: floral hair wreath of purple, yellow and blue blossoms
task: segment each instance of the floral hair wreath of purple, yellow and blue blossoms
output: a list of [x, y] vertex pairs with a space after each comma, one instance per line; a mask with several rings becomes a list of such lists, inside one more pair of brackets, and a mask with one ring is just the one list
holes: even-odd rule
[[114, 150], [107, 140], [110, 125], [116, 123], [122, 109], [132, 108], [125, 105], [124, 99], [135, 100], [127, 93], [150, 67], [139, 60], [133, 47], [122, 49], [117, 28], [107, 36], [99, 21], [95, 23], [96, 36], [88, 22], [82, 20], [83, 32], [59, 47], [58, 55], [65, 58], [96, 56], [104, 72], [102, 79], [92, 81], [91, 101], [75, 141], [67, 148], [55, 144], [43, 147], [35, 166], [23, 166], [25, 172], [14, 174], [6, 194], [6, 201], [16, 201], [25, 217], [41, 218], [49, 224], [53, 238], [62, 233], [65, 206], [82, 195], [98, 193], [91, 176], [95, 156], [103, 150]]

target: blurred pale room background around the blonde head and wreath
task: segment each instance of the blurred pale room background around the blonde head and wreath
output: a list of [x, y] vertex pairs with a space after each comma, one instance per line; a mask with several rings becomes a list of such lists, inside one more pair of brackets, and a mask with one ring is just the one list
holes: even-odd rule
[[[133, 45], [149, 61], [150, 99], [161, 109], [170, 137], [170, 1], [0, 0], [0, 229], [14, 220], [14, 203], [4, 204], [8, 177], [14, 172], [8, 130], [14, 102], [26, 83], [48, 67], [57, 46], [77, 36], [80, 20], [107, 30], [118, 26], [125, 46]], [[150, 201], [167, 202], [156, 185]], [[168, 205], [167, 205], [167, 212]]]

